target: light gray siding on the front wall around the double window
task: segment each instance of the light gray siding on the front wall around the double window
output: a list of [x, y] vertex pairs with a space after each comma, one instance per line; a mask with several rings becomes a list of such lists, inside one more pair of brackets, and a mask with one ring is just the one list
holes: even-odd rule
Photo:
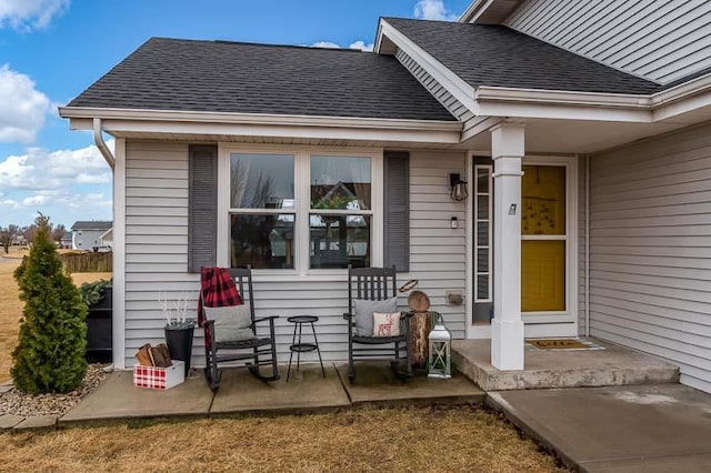
[[[398, 282], [420, 280], [432, 309], [441, 311], [452, 334], [464, 338], [464, 306], [445, 306], [444, 291], [464, 290], [465, 207], [449, 198], [449, 173], [464, 173], [461, 152], [410, 152], [410, 272]], [[196, 299], [199, 275], [188, 273], [188, 144], [127, 142], [126, 365], [144, 343], [163, 341], [158, 294]], [[457, 215], [460, 229], [449, 228]], [[278, 276], [254, 272], [258, 315], [280, 315], [277, 342], [280, 362], [289, 359], [293, 325], [287, 316], [312, 314], [324, 361], [347, 359], [348, 308], [346, 271], [341, 275]], [[402, 309], [407, 295], [400, 298]], [[302, 354], [307, 361], [316, 355]], [[196, 330], [193, 364], [204, 365], [201, 330]]]

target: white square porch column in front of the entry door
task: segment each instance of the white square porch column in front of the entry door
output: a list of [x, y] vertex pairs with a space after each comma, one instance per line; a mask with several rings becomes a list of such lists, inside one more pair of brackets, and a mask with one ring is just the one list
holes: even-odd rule
[[493, 311], [491, 364], [523, 370], [521, 321], [521, 161], [524, 130], [519, 123], [491, 129], [493, 159]]

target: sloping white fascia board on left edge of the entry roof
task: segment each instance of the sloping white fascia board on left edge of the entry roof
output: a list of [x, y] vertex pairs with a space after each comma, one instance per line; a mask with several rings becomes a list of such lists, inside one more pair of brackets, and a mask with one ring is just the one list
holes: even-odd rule
[[459, 76], [450, 71], [444, 64], [434, 59], [425, 50], [417, 46], [410, 38], [398, 31], [385, 20], [380, 20], [381, 34], [388, 37], [398, 48], [412, 58], [427, 73], [438, 81], [461, 104], [475, 111], [474, 88], [464, 82]]

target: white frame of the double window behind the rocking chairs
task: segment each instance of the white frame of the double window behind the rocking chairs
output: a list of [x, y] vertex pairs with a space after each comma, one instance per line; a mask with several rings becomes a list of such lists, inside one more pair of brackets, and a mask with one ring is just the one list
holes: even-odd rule
[[[254, 269], [256, 274], [272, 279], [283, 280], [286, 276], [314, 276], [319, 279], [323, 275], [342, 275], [346, 269], [311, 269], [309, 245], [310, 228], [309, 214], [311, 213], [338, 213], [342, 211], [329, 211], [311, 209], [311, 161], [312, 155], [319, 157], [343, 157], [343, 158], [370, 158], [371, 159], [371, 207], [369, 211], [353, 212], [353, 214], [371, 215], [370, 234], [370, 264], [381, 266], [383, 261], [383, 150], [382, 148], [329, 148], [329, 147], [304, 147], [304, 145], [277, 145], [277, 144], [239, 144], [219, 143], [218, 160], [218, 238], [217, 238], [217, 263], [220, 266], [229, 268], [230, 253], [230, 155], [232, 153], [254, 153], [254, 154], [293, 154], [294, 157], [294, 268], [293, 269]], [[240, 213], [273, 213], [262, 209], [248, 210]], [[288, 212], [292, 213], [291, 209]], [[350, 213], [349, 213], [350, 214]]]

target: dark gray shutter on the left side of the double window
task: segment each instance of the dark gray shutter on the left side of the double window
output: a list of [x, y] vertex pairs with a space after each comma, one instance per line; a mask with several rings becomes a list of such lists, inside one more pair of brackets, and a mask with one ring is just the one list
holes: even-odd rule
[[217, 264], [218, 147], [190, 145], [188, 272]]

